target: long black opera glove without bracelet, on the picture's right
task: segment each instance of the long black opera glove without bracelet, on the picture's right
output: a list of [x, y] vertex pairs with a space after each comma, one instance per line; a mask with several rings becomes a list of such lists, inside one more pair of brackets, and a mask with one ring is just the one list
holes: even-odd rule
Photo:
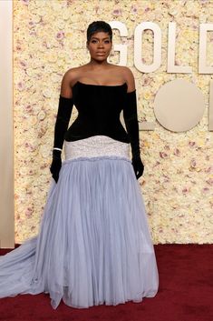
[[127, 93], [126, 102], [123, 107], [123, 119], [131, 142], [131, 164], [134, 168], [135, 176], [138, 179], [143, 174], [144, 166], [140, 159], [140, 137], [136, 90], [131, 93]]

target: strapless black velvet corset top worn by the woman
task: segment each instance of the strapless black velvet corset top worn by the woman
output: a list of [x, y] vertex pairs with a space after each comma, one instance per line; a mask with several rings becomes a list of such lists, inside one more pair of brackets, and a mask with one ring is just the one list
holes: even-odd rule
[[107, 135], [123, 143], [130, 143], [129, 135], [120, 121], [126, 95], [126, 83], [89, 85], [77, 81], [73, 85], [73, 104], [78, 110], [78, 116], [66, 131], [64, 139], [70, 142], [92, 135]]

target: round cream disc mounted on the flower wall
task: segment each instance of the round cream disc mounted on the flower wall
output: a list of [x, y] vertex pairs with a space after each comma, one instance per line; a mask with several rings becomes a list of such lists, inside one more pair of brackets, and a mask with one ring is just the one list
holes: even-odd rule
[[183, 132], [198, 124], [205, 101], [196, 85], [175, 79], [162, 85], [154, 100], [154, 113], [160, 125], [173, 132]]

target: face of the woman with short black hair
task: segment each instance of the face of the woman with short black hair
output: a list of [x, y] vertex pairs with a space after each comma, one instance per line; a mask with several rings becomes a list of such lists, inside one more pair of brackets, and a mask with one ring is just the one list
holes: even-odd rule
[[110, 55], [111, 45], [111, 38], [108, 33], [97, 32], [92, 35], [90, 42], [87, 43], [87, 48], [93, 59], [102, 61]]

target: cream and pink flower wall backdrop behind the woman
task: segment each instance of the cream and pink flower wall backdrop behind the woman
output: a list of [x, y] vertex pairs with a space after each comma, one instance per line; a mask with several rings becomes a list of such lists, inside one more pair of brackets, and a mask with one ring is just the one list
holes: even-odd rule
[[[118, 20], [129, 36], [113, 31], [114, 44], [128, 44], [128, 66], [138, 85], [140, 121], [156, 123], [140, 131], [140, 177], [150, 232], [158, 243], [213, 241], [213, 132], [208, 131], [208, 90], [212, 75], [198, 75], [198, 27], [213, 22], [212, 1], [14, 1], [15, 242], [38, 233], [51, 184], [53, 128], [63, 74], [89, 61], [86, 28], [94, 20]], [[133, 65], [133, 34], [141, 22], [162, 31], [162, 65], [150, 74]], [[169, 22], [177, 23], [176, 65], [191, 65], [192, 74], [169, 74]], [[213, 33], [208, 33], [208, 65], [213, 65]], [[151, 63], [152, 35], [143, 36], [143, 59]], [[210, 55], [211, 53], [211, 55]], [[110, 62], [117, 64], [118, 52]], [[173, 133], [155, 119], [153, 101], [160, 86], [181, 77], [196, 84], [206, 99], [199, 124]], [[74, 109], [71, 122], [77, 113]]]

